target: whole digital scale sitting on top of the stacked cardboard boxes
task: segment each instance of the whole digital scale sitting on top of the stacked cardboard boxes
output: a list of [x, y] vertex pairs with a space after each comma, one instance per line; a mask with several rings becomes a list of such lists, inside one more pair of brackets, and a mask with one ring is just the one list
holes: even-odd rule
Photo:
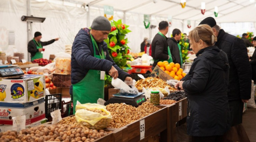
[[21, 77], [24, 73], [18, 66], [0, 65], [0, 79]]

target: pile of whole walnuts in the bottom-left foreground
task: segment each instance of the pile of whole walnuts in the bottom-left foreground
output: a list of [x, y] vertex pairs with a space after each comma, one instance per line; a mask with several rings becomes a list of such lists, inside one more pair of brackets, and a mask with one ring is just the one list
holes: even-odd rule
[[38, 126], [27, 128], [19, 133], [16, 131], [6, 131], [0, 133], [2, 142], [44, 142], [44, 141], [64, 141], [64, 142], [92, 142], [110, 132], [104, 130], [90, 130], [75, 124], [58, 124], [52, 126]]

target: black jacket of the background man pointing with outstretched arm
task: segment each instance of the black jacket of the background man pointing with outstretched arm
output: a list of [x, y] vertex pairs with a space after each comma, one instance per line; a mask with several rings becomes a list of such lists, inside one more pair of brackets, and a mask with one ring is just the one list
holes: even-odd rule
[[[45, 41], [45, 42], [42, 42], [42, 41], [39, 41], [39, 44], [43, 46], [46, 46], [46, 45], [49, 45], [49, 44], [52, 44], [54, 43], [55, 39], [52, 39], [52, 40], [49, 40], [49, 41]], [[30, 57], [34, 57], [36, 52], [38, 52], [38, 49], [36, 48], [36, 44], [33, 40], [30, 40], [27, 44], [27, 51], [30, 52]]]

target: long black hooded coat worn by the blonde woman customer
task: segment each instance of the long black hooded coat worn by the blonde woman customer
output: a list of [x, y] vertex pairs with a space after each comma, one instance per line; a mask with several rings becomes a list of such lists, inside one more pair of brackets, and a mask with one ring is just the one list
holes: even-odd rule
[[188, 135], [223, 135], [230, 127], [228, 57], [216, 46], [201, 49], [196, 56], [181, 79], [188, 93]]

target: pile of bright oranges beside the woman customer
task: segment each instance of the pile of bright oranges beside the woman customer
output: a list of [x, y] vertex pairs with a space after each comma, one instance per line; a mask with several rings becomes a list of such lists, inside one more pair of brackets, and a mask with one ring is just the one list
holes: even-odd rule
[[183, 69], [180, 68], [180, 64], [178, 63], [174, 64], [174, 62], [170, 62], [169, 64], [168, 61], [159, 61], [158, 66], [175, 80], [181, 80], [181, 78], [187, 75], [183, 73]]

